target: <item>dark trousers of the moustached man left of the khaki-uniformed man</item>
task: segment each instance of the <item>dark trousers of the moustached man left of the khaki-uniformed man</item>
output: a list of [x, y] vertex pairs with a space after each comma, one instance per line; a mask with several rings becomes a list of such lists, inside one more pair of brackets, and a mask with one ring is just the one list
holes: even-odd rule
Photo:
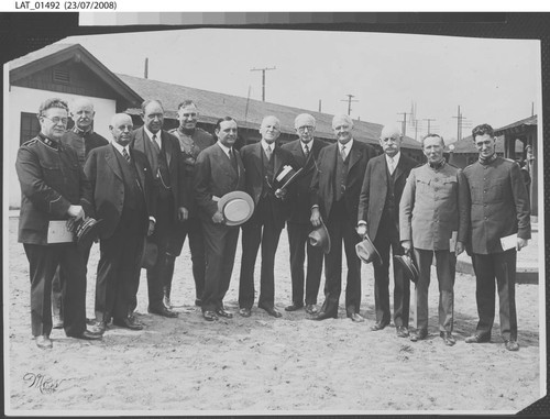
[[[382, 257], [374, 265], [374, 306], [376, 322], [389, 323], [389, 250], [393, 255], [403, 255], [399, 232], [393, 221], [381, 222], [373, 242]], [[410, 309], [410, 284], [399, 264], [394, 264], [394, 324], [408, 327]]]

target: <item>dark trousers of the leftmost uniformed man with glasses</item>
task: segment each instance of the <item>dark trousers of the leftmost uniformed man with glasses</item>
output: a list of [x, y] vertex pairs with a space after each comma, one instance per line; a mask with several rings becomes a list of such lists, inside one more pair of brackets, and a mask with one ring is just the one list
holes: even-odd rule
[[86, 330], [86, 265], [74, 243], [23, 244], [30, 264], [31, 328], [34, 337], [52, 332], [52, 280], [61, 269], [63, 328], [67, 337]]

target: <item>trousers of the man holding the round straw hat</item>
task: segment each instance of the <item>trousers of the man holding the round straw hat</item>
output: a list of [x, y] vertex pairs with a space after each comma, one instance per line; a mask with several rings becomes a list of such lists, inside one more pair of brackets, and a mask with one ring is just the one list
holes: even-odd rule
[[206, 272], [202, 312], [223, 308], [235, 261], [239, 227], [202, 221], [205, 231]]

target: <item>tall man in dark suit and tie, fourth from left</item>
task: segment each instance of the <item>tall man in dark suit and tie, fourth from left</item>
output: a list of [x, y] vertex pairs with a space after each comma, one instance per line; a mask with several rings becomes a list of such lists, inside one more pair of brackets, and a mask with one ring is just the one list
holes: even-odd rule
[[[177, 317], [177, 312], [164, 305], [166, 279], [166, 250], [176, 223], [188, 216], [189, 191], [186, 189], [184, 158], [178, 140], [164, 131], [164, 109], [158, 100], [145, 100], [142, 104], [143, 126], [133, 132], [131, 147], [147, 157], [158, 188], [155, 231], [150, 240], [157, 246], [156, 263], [147, 269], [147, 311], [164, 317]], [[132, 304], [132, 306], [135, 306]], [[131, 307], [132, 309], [135, 307]]]

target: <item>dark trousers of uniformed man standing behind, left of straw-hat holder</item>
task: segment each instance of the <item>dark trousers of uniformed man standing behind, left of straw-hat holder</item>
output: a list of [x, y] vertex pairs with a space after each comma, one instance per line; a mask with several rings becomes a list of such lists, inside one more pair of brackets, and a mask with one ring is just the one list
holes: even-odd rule
[[168, 243], [166, 251], [165, 291], [169, 298], [172, 280], [174, 276], [174, 264], [176, 257], [182, 254], [185, 239], [189, 238], [189, 250], [191, 252], [193, 277], [195, 279], [195, 296], [200, 299], [205, 290], [205, 233], [202, 223], [198, 218], [191, 218], [177, 225]]

